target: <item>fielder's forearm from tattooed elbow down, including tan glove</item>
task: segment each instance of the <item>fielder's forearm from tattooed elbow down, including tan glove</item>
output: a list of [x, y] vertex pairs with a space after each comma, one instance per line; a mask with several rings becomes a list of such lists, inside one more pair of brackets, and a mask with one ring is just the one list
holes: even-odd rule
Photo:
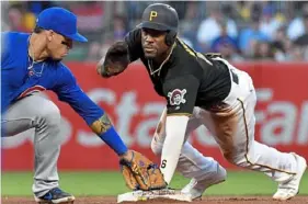
[[167, 183], [157, 165], [140, 152], [128, 150], [106, 113], [90, 126], [118, 156], [126, 185], [132, 190], [159, 190]]

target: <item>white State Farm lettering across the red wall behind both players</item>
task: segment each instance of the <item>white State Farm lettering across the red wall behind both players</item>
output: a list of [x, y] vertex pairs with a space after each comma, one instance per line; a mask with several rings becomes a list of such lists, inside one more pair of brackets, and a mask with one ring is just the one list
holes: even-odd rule
[[[303, 101], [300, 105], [296, 105], [292, 101], [274, 101], [272, 89], [258, 89], [256, 93], [258, 103], [262, 104], [262, 109], [255, 110], [259, 140], [267, 145], [307, 145], [308, 101]], [[138, 145], [142, 148], [150, 147], [153, 131], [166, 106], [163, 99], [161, 102], [142, 103], [138, 100], [136, 90], [117, 94], [111, 89], [103, 88], [92, 89], [87, 94], [110, 114], [125, 144]], [[66, 106], [66, 109], [70, 107]], [[68, 118], [66, 112], [66, 110], [61, 110], [62, 144], [71, 143], [73, 139], [80, 146], [89, 148], [105, 145], [90, 128], [80, 126], [79, 121], [77, 123], [75, 118]], [[75, 135], [72, 135], [73, 133]], [[33, 135], [34, 132], [28, 131], [19, 136], [2, 138], [2, 148], [18, 148], [28, 140], [32, 141]], [[191, 139], [195, 139], [203, 146], [217, 146], [205, 127], [196, 129], [190, 137]]]

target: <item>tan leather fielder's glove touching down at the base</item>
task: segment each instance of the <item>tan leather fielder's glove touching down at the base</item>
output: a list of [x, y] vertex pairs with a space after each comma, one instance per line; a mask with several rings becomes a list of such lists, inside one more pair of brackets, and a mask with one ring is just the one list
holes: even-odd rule
[[134, 191], [167, 188], [159, 167], [137, 151], [132, 151], [130, 159], [121, 159], [119, 165], [126, 185]]

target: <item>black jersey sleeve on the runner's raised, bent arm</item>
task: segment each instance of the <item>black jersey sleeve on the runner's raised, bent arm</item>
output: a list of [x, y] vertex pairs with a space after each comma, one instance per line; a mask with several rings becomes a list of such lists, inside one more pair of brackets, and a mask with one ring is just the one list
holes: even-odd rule
[[133, 63], [133, 61], [139, 59], [142, 55], [141, 30], [136, 29], [136, 30], [130, 31], [125, 36], [125, 42], [128, 45], [130, 61]]

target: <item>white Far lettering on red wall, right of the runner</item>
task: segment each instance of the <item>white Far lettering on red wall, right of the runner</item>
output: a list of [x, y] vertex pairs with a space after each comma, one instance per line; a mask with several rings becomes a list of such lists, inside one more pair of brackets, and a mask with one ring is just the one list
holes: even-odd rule
[[296, 105], [292, 101], [274, 101], [272, 89], [258, 89], [255, 110], [260, 140], [267, 145], [308, 144], [308, 101]]

